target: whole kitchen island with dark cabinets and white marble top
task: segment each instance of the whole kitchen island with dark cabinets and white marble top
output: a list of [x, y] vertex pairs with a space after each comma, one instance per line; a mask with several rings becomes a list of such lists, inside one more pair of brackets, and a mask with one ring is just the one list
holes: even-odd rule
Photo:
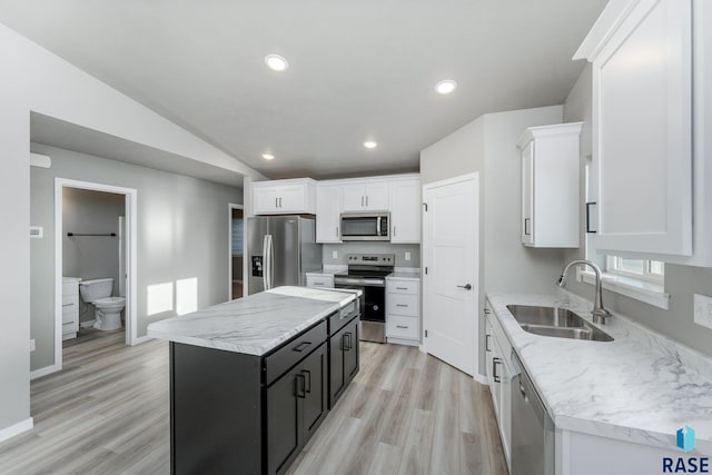
[[278, 287], [157, 321], [172, 474], [284, 473], [358, 372], [358, 294]]

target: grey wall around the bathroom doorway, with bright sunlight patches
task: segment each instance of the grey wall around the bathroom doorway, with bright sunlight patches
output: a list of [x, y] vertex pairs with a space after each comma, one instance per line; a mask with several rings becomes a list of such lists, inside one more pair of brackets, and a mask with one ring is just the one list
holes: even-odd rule
[[[31, 170], [32, 224], [44, 227], [44, 238], [32, 239], [31, 249], [31, 337], [37, 342], [32, 370], [55, 364], [56, 177], [138, 190], [138, 337], [146, 335], [149, 323], [175, 316], [179, 301], [195, 299], [205, 308], [228, 300], [227, 210], [228, 204], [243, 201], [239, 188], [39, 144], [31, 147], [52, 159], [51, 168]], [[185, 279], [196, 279], [195, 294], [179, 294], [178, 281]], [[155, 313], [151, 293], [159, 286], [171, 289], [171, 305]]]

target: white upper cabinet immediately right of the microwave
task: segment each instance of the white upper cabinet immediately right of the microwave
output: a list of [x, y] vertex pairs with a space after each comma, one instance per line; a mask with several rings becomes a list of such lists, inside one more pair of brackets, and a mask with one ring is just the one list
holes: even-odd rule
[[390, 243], [421, 243], [421, 178], [390, 182]]

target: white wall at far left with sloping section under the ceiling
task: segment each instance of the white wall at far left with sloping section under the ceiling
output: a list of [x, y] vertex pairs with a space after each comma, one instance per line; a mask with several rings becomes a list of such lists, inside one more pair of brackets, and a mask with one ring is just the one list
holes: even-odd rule
[[0, 26], [0, 437], [30, 417], [30, 111], [257, 179], [261, 175]]

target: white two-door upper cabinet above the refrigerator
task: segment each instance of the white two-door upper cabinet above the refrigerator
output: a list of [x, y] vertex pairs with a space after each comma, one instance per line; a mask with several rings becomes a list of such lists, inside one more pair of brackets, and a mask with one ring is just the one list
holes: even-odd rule
[[316, 212], [316, 186], [310, 178], [256, 181], [253, 184], [255, 215]]

